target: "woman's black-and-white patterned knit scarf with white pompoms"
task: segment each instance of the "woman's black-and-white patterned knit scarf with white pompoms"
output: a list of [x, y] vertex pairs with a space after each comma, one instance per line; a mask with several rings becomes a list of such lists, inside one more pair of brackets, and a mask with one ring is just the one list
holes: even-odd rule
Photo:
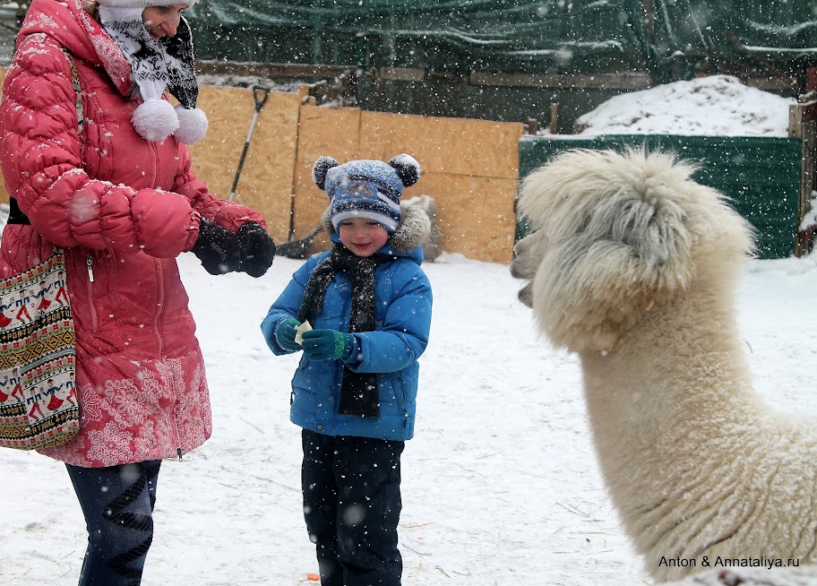
[[[187, 4], [196, 0], [97, 0], [99, 20], [131, 63], [133, 81], [142, 104], [133, 112], [133, 127], [147, 141], [163, 141], [170, 134], [193, 144], [207, 132], [207, 116], [196, 108], [199, 87], [193, 65], [193, 34], [184, 17], [176, 36], [153, 39], [142, 22], [148, 6]], [[168, 90], [179, 100], [173, 108], [162, 99]]]

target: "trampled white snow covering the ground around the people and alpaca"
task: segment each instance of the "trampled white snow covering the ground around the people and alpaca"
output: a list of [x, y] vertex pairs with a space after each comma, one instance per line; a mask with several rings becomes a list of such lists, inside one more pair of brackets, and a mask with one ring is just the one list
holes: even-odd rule
[[[752, 96], [728, 102], [742, 99]], [[685, 99], [676, 101], [667, 109]], [[295, 586], [316, 572], [301, 514], [299, 429], [288, 422], [297, 356], [273, 357], [258, 327], [300, 263], [278, 258], [253, 280], [211, 277], [192, 254], [180, 258], [214, 433], [185, 461], [163, 464], [144, 586]], [[434, 323], [420, 362], [417, 435], [402, 460], [403, 582], [652, 583], [606, 496], [577, 360], [538, 338], [507, 266], [443, 254], [426, 272]], [[771, 408], [817, 416], [814, 291], [817, 255], [753, 261], [737, 303], [758, 392]], [[0, 450], [0, 470], [0, 585], [75, 584], [84, 527], [64, 467]]]

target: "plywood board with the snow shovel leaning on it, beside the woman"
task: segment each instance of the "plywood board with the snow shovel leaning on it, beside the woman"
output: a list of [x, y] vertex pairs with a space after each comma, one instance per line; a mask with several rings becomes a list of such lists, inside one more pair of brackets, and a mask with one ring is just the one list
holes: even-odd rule
[[[211, 192], [226, 199], [253, 121], [253, 90], [202, 86], [198, 105], [210, 129], [190, 147], [193, 168]], [[234, 198], [260, 211], [277, 241], [286, 240], [289, 231], [299, 108], [297, 94], [270, 93], [255, 121]]]

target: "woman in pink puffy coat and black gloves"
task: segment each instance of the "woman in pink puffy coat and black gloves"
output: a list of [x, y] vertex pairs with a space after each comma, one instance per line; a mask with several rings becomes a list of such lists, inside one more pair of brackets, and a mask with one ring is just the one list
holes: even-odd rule
[[191, 170], [185, 143], [207, 127], [182, 17], [194, 3], [33, 0], [3, 86], [0, 277], [65, 251], [82, 422], [41, 452], [65, 462], [85, 514], [80, 584], [141, 582], [159, 463], [211, 435], [176, 257], [259, 277], [275, 253], [260, 214]]

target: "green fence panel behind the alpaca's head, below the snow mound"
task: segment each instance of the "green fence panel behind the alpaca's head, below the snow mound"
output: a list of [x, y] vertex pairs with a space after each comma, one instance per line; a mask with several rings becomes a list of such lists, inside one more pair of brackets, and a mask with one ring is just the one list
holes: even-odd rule
[[[645, 147], [672, 151], [700, 165], [694, 179], [727, 195], [729, 203], [757, 230], [760, 258], [794, 253], [800, 160], [803, 142], [794, 138], [615, 134], [596, 137], [520, 139], [520, 178], [563, 151]], [[527, 230], [517, 221], [517, 237]]]

